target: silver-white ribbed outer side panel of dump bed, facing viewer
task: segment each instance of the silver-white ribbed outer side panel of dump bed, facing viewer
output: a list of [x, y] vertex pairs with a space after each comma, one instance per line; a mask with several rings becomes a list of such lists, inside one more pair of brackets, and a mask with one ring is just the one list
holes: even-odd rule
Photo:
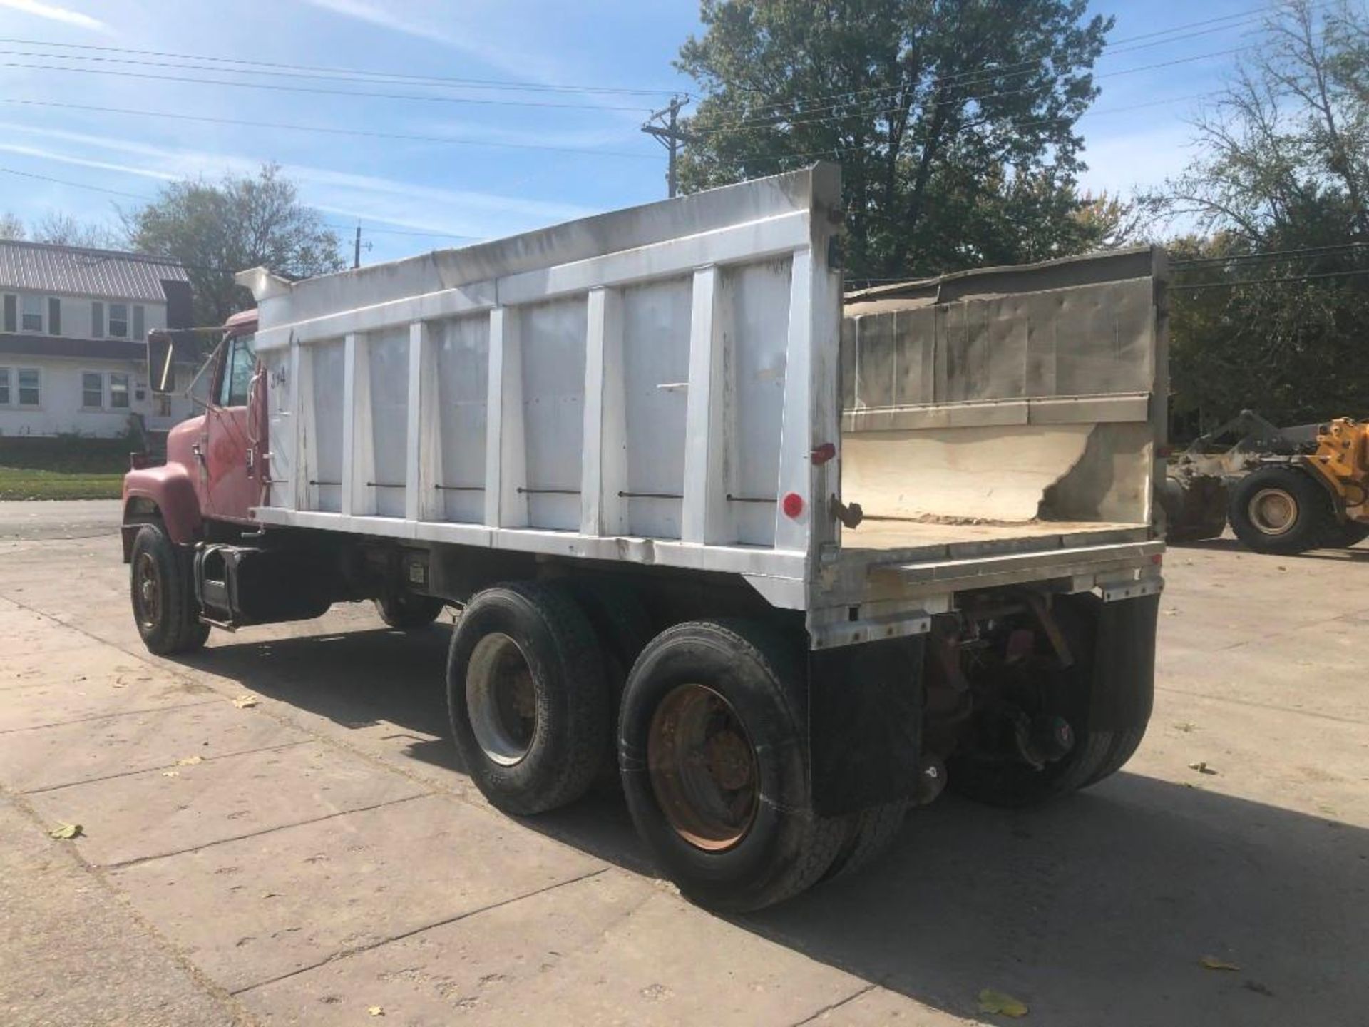
[[[256, 275], [257, 518], [739, 571], [801, 607], [834, 541], [834, 166], [464, 251]], [[801, 500], [786, 514], [782, 497]]]

